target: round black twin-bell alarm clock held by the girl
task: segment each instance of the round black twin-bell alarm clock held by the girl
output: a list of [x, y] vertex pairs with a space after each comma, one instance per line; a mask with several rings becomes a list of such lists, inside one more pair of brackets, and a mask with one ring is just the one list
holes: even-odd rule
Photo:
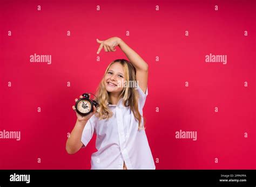
[[[94, 94], [92, 95], [95, 96]], [[78, 99], [76, 102], [76, 111], [81, 116], [87, 116], [93, 111], [93, 105], [97, 107], [98, 103], [95, 100], [90, 99], [89, 93], [84, 93], [82, 96], [83, 98]]]

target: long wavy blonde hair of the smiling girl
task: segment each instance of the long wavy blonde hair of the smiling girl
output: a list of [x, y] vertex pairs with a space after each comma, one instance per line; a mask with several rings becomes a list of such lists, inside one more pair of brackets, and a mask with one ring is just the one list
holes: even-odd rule
[[[126, 83], [129, 83], [130, 81], [136, 82], [136, 69], [131, 64], [131, 62], [125, 59], [117, 59], [112, 61], [109, 64], [109, 66], [106, 68], [105, 74], [102, 78], [102, 81], [100, 81], [97, 92], [96, 92], [97, 102], [99, 106], [95, 115], [99, 119], [108, 119], [113, 116], [113, 112], [110, 110], [109, 106], [107, 105], [109, 104], [109, 93], [107, 92], [104, 84], [104, 77], [113, 63], [122, 64], [124, 68], [124, 77], [125, 77]], [[136, 90], [136, 88], [127, 86], [126, 84], [126, 87], [123, 89], [123, 91], [119, 95], [119, 98], [122, 98], [122, 97], [123, 97], [123, 105], [130, 106], [130, 109], [133, 112], [134, 117], [139, 122], [139, 128], [140, 128], [142, 115], [139, 113], [139, 109], [138, 109], [138, 99], [139, 99], [138, 91]]]

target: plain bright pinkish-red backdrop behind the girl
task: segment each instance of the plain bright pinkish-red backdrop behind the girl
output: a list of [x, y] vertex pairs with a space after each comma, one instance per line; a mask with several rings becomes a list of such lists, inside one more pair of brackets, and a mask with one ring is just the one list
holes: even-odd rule
[[[95, 137], [65, 150], [71, 106], [126, 58], [119, 48], [96, 54], [96, 38], [113, 36], [149, 63], [144, 116], [157, 169], [256, 169], [255, 1], [1, 1], [0, 11], [0, 131], [21, 131], [20, 141], [0, 139], [0, 169], [90, 169]], [[35, 53], [51, 64], [31, 63]], [[227, 64], [206, 63], [210, 53]], [[197, 141], [176, 139], [179, 130]]]

